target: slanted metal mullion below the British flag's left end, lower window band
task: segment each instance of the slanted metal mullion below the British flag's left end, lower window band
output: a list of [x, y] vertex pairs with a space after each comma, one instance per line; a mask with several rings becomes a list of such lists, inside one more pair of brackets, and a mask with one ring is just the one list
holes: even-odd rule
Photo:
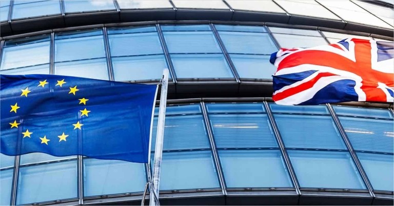
[[267, 101], [264, 101], [264, 107], [265, 107], [265, 110], [267, 111], [268, 121], [269, 121], [269, 123], [270, 123], [270, 125], [271, 125], [271, 127], [273, 129], [274, 136], [275, 136], [275, 138], [278, 141], [278, 145], [279, 145], [279, 148], [281, 150], [283, 159], [284, 159], [286, 167], [287, 167], [287, 169], [289, 171], [290, 178], [291, 178], [293, 186], [295, 188], [295, 192], [297, 192], [298, 195], [301, 195], [300, 185], [298, 183], [297, 177], [295, 176], [293, 167], [292, 167], [291, 162], [290, 162], [290, 158], [289, 158], [289, 156], [288, 156], [288, 154], [286, 152], [285, 145], [283, 143], [281, 134], [279, 133], [278, 126], [275, 123], [275, 120], [273, 118], [271, 109], [269, 108], [269, 105], [268, 105]]

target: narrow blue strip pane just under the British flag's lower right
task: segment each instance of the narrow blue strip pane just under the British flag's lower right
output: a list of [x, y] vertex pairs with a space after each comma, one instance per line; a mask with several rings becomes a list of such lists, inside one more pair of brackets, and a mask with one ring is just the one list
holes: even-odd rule
[[360, 117], [377, 117], [392, 118], [392, 114], [388, 109], [369, 109], [357, 107], [333, 107], [337, 115], [360, 116]]

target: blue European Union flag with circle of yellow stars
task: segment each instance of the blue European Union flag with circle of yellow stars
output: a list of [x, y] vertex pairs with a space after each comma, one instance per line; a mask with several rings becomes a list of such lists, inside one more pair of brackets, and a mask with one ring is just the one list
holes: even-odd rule
[[148, 162], [156, 85], [1, 75], [1, 153]]

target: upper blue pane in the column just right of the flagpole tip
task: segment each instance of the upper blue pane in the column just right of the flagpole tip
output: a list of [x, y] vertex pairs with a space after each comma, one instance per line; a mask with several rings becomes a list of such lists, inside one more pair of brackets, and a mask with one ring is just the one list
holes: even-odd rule
[[163, 32], [170, 53], [221, 53], [211, 31]]

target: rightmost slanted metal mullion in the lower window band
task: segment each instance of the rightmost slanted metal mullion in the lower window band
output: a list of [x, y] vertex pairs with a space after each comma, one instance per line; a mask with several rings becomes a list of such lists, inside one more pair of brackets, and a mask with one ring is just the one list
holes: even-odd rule
[[376, 196], [373, 193], [373, 189], [372, 189], [372, 186], [368, 180], [368, 177], [365, 174], [365, 171], [364, 171], [363, 167], [361, 166], [359, 159], [357, 158], [356, 152], [354, 151], [353, 147], [351, 146], [351, 143], [346, 135], [345, 130], [343, 129], [343, 127], [341, 125], [341, 122], [340, 122], [337, 114], [335, 113], [334, 109], [332, 108], [332, 106], [330, 104], [327, 104], [327, 107], [328, 107], [330, 114], [332, 115], [334, 123], [336, 124], [339, 132], [341, 133], [342, 139], [344, 140], [345, 145], [346, 145], [347, 149], [349, 150], [349, 153], [350, 153], [351, 158], [353, 159], [353, 162], [356, 164], [356, 167], [357, 167], [358, 171], [360, 172], [361, 178], [363, 179], [363, 181], [365, 182], [365, 184], [367, 186], [369, 194], [375, 198]]

